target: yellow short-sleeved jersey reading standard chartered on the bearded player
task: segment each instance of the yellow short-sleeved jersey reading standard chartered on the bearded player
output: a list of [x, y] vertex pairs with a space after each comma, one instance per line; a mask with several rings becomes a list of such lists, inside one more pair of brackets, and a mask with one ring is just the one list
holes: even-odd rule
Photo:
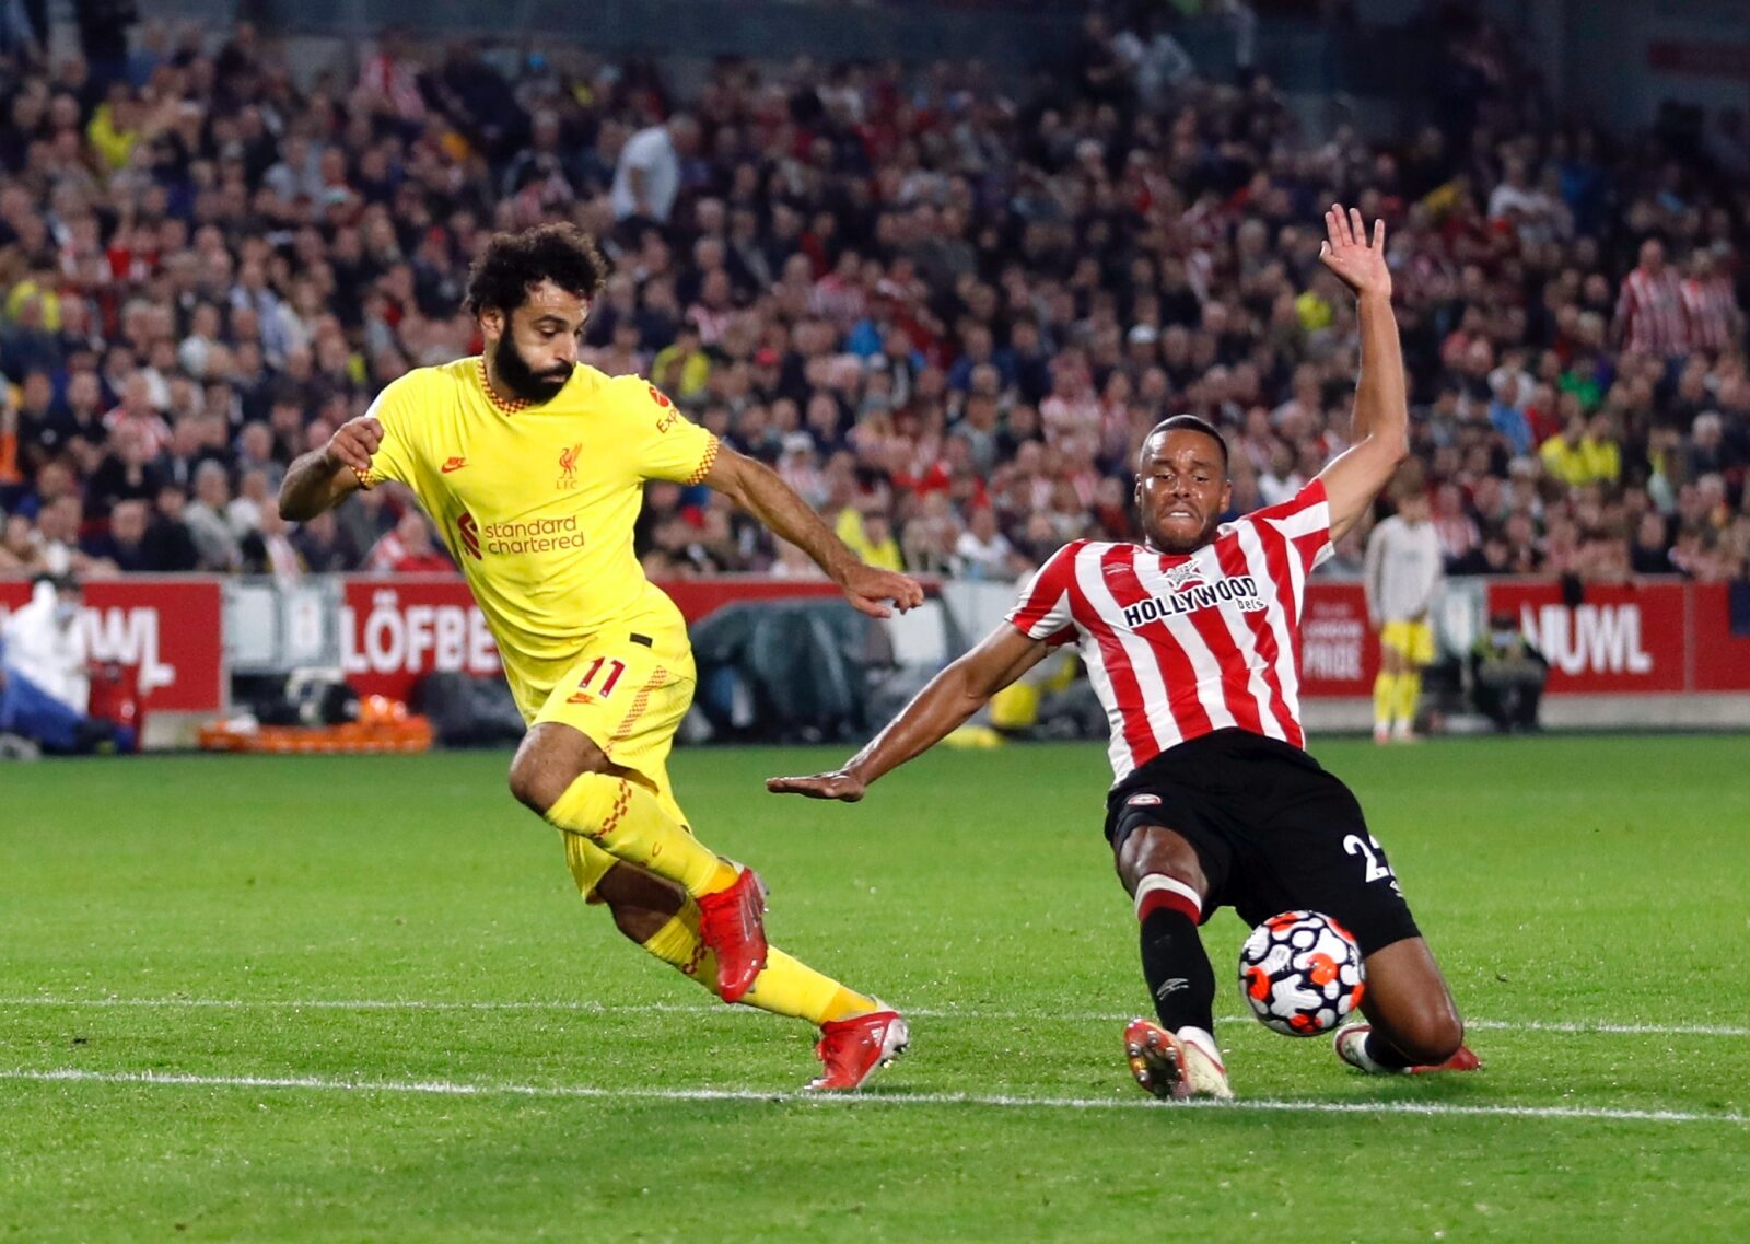
[[644, 481], [698, 483], [718, 439], [653, 385], [579, 364], [551, 401], [504, 402], [472, 357], [410, 371], [371, 415], [383, 443], [360, 483], [397, 479], [418, 495], [513, 688], [607, 626], [684, 635], [679, 609], [632, 553], [632, 525]]

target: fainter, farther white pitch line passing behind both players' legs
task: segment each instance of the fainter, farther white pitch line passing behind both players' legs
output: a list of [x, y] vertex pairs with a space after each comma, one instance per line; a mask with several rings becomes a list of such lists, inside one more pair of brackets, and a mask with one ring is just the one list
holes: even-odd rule
[[[0, 1010], [9, 1006], [42, 1008], [112, 1008], [136, 1006], [144, 1010], [284, 1010], [284, 1011], [558, 1011], [581, 1015], [714, 1015], [721, 1006], [693, 1003], [597, 1003], [592, 999], [422, 999], [422, 997], [0, 997]], [[754, 1008], [732, 1008], [732, 1015], [758, 1015]], [[906, 1008], [908, 1018], [920, 1020], [1054, 1020], [1066, 1024], [1122, 1024], [1136, 1011], [987, 1011], [980, 1008]], [[1237, 1024], [1251, 1017], [1223, 1015], [1222, 1024]], [[1708, 1036], [1750, 1038], [1750, 1027], [1732, 1024], [1612, 1024], [1605, 1020], [1465, 1020], [1477, 1032], [1566, 1032], [1575, 1036]]]

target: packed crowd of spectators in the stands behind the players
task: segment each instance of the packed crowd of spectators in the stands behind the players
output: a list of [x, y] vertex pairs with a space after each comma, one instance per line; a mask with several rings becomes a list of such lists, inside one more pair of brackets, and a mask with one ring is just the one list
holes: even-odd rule
[[[1351, 299], [1320, 212], [1391, 227], [1416, 469], [1458, 574], [1746, 574], [1750, 138], [1547, 121], [1482, 23], [1438, 31], [1438, 124], [1309, 140], [1146, 19], [1068, 68], [649, 63], [385, 37], [299, 87], [275, 47], [144, 26], [0, 63], [0, 574], [430, 570], [374, 490], [273, 495], [402, 371], [478, 350], [494, 229], [572, 219], [614, 275], [583, 359], [772, 462], [870, 562], [1012, 579], [1130, 537], [1158, 418], [1227, 429], [1234, 509], [1342, 446]], [[1358, 574], [1365, 530], [1326, 574]], [[814, 574], [653, 485], [653, 574]]]

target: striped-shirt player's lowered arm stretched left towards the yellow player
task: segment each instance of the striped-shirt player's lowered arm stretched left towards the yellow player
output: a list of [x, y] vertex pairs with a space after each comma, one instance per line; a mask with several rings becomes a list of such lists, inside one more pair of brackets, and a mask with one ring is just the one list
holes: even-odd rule
[[1031, 670], [1052, 646], [1027, 639], [1003, 623], [984, 642], [942, 670], [917, 693], [900, 716], [887, 723], [870, 744], [845, 761], [844, 768], [812, 777], [768, 777], [774, 794], [807, 794], [810, 800], [856, 803], [870, 782], [928, 752], [950, 731], [966, 724], [985, 702]]

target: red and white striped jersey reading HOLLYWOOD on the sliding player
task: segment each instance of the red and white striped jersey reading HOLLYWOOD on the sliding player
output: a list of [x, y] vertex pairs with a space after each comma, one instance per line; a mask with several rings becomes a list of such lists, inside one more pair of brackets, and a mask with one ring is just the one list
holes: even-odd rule
[[1314, 479], [1222, 525], [1190, 555], [1066, 544], [1008, 621], [1029, 639], [1080, 647], [1111, 728], [1115, 780], [1230, 726], [1304, 747], [1300, 605], [1307, 574], [1330, 551], [1330, 504]]

